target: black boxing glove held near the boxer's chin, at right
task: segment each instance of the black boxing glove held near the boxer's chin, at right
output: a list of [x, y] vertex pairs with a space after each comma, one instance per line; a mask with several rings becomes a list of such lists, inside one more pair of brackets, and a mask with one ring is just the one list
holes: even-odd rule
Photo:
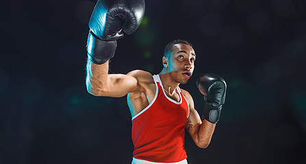
[[216, 124], [220, 119], [222, 105], [225, 103], [227, 83], [216, 74], [203, 74], [196, 80], [196, 86], [204, 95], [204, 118], [208, 122]]

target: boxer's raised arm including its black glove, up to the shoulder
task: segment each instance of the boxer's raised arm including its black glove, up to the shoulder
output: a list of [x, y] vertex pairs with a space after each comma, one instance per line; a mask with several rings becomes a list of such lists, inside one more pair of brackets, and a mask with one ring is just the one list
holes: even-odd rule
[[136, 90], [136, 78], [125, 74], [108, 74], [108, 61], [116, 51], [123, 32], [132, 33], [144, 15], [144, 0], [99, 0], [88, 23], [88, 62], [86, 87], [95, 96], [125, 96]]

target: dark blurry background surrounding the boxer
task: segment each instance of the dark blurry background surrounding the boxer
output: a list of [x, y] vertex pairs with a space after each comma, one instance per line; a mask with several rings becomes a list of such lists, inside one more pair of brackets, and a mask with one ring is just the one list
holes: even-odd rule
[[[126, 97], [86, 91], [96, 1], [1, 2], [0, 163], [131, 163]], [[188, 162], [306, 163], [306, 1], [146, 0], [142, 25], [118, 40], [111, 73], [157, 74], [164, 46], [188, 40], [194, 76], [213, 72], [227, 100], [207, 149], [186, 135]]]

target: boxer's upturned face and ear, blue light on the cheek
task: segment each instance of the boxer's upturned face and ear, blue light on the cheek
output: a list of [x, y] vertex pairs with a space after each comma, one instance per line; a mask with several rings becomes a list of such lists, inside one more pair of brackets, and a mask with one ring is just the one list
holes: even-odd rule
[[164, 57], [163, 64], [165, 66], [165, 61], [167, 61], [166, 66], [173, 80], [185, 84], [190, 79], [194, 70], [194, 61], [196, 59], [194, 49], [187, 44], [175, 44], [172, 50], [173, 52], [168, 57], [169, 59]]

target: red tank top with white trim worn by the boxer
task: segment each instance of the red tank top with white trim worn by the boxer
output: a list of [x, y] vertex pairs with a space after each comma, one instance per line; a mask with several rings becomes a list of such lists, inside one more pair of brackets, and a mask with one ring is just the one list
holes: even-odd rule
[[179, 87], [180, 101], [164, 93], [159, 75], [153, 76], [156, 93], [148, 107], [132, 118], [133, 156], [151, 162], [175, 163], [187, 158], [185, 126], [189, 115]]

